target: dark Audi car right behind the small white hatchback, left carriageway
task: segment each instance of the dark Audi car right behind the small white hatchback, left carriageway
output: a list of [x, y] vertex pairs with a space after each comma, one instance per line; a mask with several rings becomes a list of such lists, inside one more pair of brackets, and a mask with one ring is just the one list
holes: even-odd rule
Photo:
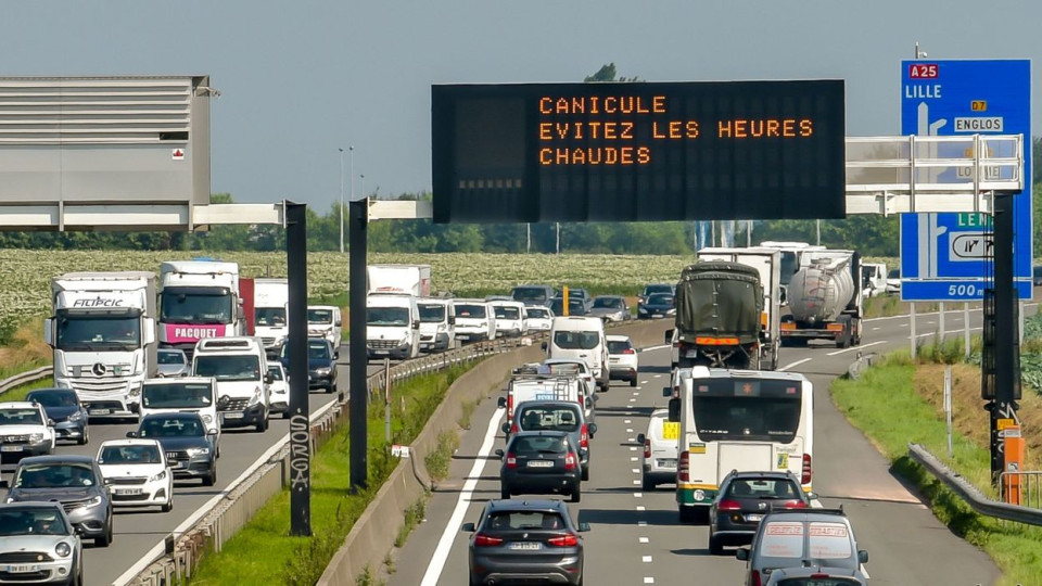
[[217, 433], [207, 433], [194, 411], [149, 413], [127, 437], [157, 440], [175, 479], [201, 479], [203, 486], [217, 482]]

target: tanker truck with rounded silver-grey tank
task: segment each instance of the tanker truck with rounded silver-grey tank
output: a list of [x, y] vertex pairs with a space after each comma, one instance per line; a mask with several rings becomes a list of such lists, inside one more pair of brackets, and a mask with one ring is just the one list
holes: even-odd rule
[[836, 347], [861, 344], [861, 255], [854, 251], [808, 251], [788, 286], [789, 314], [782, 317], [782, 345], [830, 340]]

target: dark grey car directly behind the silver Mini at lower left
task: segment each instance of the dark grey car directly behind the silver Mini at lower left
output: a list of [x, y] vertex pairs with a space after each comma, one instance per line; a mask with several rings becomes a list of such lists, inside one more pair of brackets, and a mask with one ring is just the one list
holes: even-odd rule
[[[8, 481], [0, 481], [8, 486]], [[112, 543], [112, 495], [98, 462], [90, 456], [36, 456], [18, 463], [7, 502], [58, 501], [82, 537], [94, 545]]]

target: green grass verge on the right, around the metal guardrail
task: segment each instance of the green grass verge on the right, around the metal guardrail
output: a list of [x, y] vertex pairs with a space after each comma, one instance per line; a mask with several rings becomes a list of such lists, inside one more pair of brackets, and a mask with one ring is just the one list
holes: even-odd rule
[[839, 409], [890, 460], [893, 469], [917, 486], [933, 513], [956, 534], [980, 547], [1002, 570], [1000, 585], [1037, 584], [1042, 576], [1042, 527], [999, 521], [977, 514], [954, 493], [907, 456], [907, 444], [918, 443], [974, 483], [990, 497], [991, 460], [960, 434], [953, 435], [948, 459], [944, 422], [936, 408], [913, 388], [914, 366], [905, 357], [887, 359], [857, 380], [837, 379], [831, 393]]

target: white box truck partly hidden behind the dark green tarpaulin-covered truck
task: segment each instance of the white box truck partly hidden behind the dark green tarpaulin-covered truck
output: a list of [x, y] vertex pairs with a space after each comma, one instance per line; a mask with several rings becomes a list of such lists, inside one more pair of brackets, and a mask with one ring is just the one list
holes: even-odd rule
[[763, 286], [763, 315], [760, 320], [760, 368], [778, 368], [782, 323], [782, 253], [777, 249], [707, 247], [698, 251], [699, 260], [730, 260], [750, 266], [760, 273]]

